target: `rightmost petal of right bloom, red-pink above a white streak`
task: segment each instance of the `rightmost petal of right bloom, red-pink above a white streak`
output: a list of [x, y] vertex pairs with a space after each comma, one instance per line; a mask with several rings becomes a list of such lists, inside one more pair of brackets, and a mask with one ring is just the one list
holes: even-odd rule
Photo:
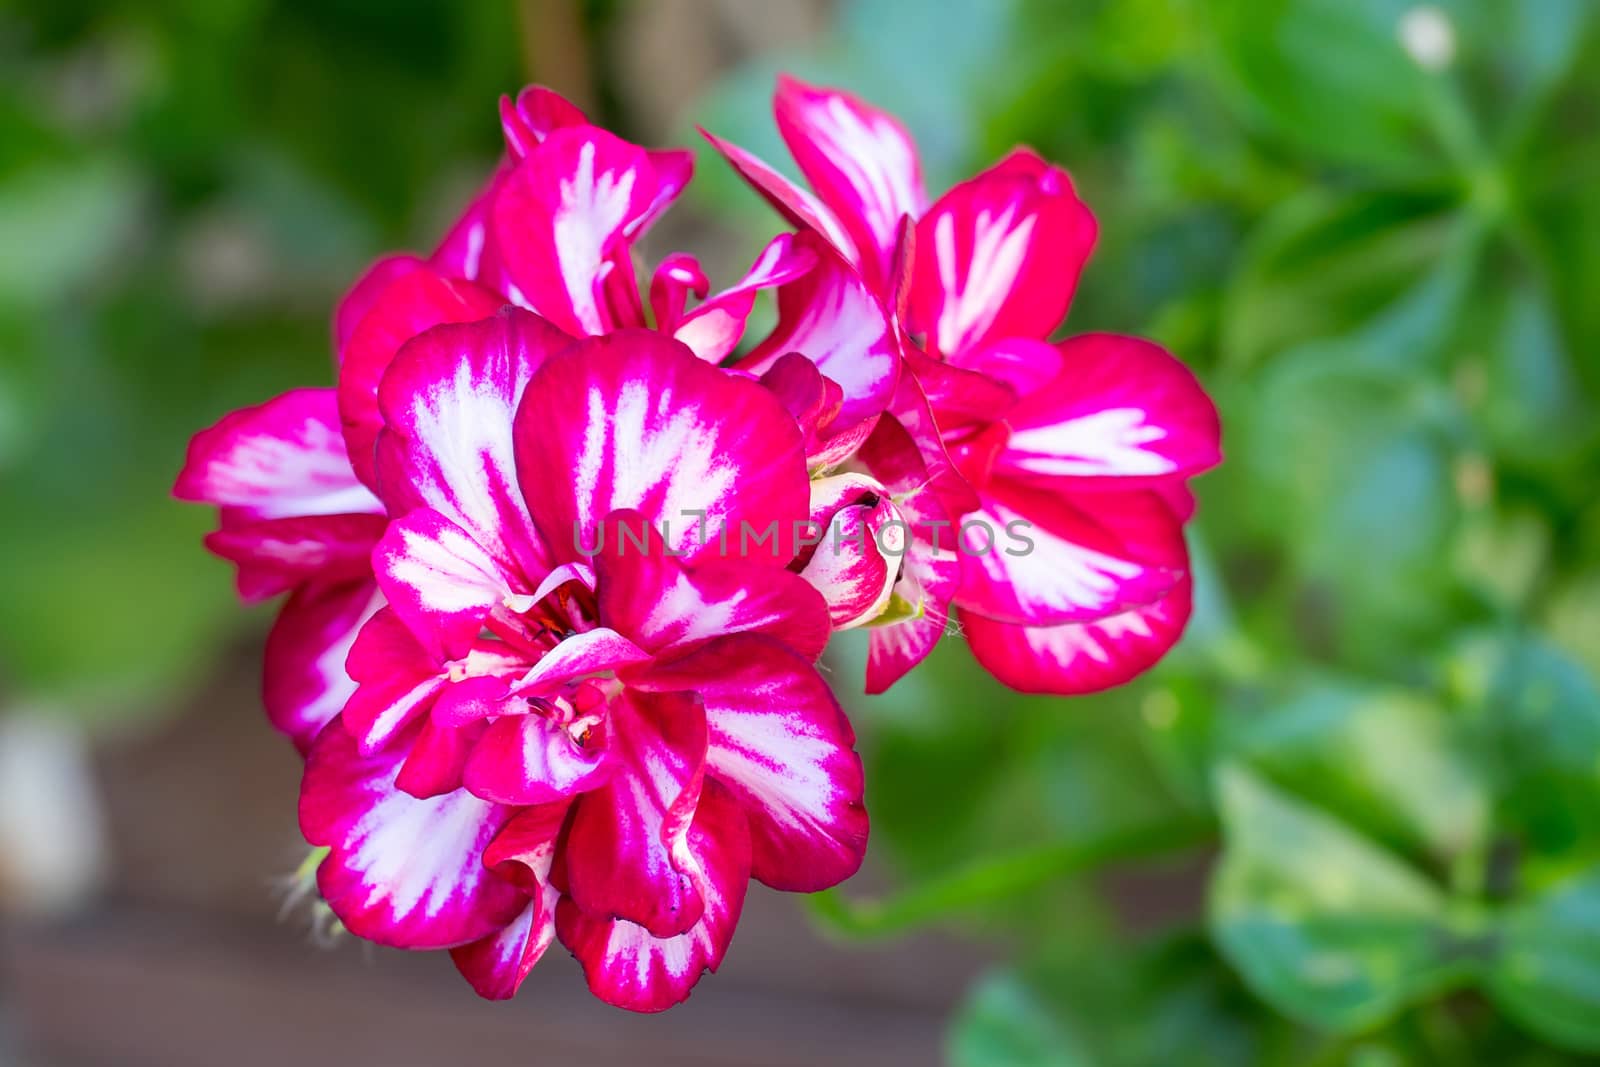
[[1165, 349], [1115, 334], [1059, 347], [1061, 376], [1006, 413], [997, 474], [1123, 488], [1187, 478], [1222, 459], [1216, 406]]

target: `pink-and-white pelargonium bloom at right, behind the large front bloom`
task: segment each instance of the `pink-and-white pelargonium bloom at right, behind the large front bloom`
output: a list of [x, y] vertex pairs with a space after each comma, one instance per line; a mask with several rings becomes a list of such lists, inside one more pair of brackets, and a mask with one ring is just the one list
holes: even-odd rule
[[[979, 662], [1038, 693], [1101, 689], [1152, 665], [1189, 617], [1186, 483], [1221, 459], [1219, 424], [1189, 370], [1149, 341], [1048, 342], [1096, 234], [1066, 171], [1018, 149], [930, 202], [891, 115], [792, 78], [774, 110], [814, 194], [710, 139], [902, 328], [915, 387], [891, 410], [960, 525], [944, 528], [960, 549], [950, 600]], [[939, 606], [925, 605], [910, 638], [874, 635], [886, 673], [926, 654]], [[894, 645], [890, 667], [880, 653]]]

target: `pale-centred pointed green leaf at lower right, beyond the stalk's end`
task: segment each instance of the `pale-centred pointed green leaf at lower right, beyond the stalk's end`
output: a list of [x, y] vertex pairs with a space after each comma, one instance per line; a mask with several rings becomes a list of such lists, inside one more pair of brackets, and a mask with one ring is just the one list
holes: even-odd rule
[[1211, 933], [1258, 997], [1358, 1032], [1461, 979], [1438, 886], [1242, 766], [1219, 769], [1218, 793]]

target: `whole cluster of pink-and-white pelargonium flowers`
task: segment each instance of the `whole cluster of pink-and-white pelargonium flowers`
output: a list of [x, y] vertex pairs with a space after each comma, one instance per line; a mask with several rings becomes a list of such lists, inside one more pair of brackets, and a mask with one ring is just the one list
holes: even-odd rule
[[1002, 681], [1085, 693], [1189, 614], [1216, 413], [1150, 342], [1048, 341], [1094, 240], [1066, 173], [1019, 150], [930, 203], [891, 117], [794, 80], [776, 115], [813, 192], [707, 138], [794, 229], [720, 293], [686, 254], [642, 291], [691, 155], [502, 99], [461, 221], [339, 304], [336, 386], [229, 414], [178, 478], [240, 593], [288, 593], [264, 702], [323, 901], [483, 997], [558, 937], [658, 1011], [750, 878], [854, 873], [835, 630], [869, 629], [870, 691], [954, 608]]

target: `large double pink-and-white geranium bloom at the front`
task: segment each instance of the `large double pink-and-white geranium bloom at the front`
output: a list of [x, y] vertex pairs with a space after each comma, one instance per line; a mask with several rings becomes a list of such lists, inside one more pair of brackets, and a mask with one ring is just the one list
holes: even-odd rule
[[307, 763], [322, 894], [485, 997], [558, 937], [598, 997], [670, 1006], [750, 877], [819, 889], [866, 846], [829, 608], [787, 569], [802, 432], [682, 342], [520, 309], [413, 339], [378, 400], [389, 606]]

